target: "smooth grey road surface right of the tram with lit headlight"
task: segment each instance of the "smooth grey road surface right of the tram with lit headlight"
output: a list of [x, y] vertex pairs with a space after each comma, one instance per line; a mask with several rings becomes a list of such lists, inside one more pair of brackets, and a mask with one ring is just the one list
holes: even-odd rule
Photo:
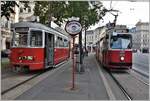
[[133, 69], [149, 76], [149, 54], [148, 53], [133, 53]]

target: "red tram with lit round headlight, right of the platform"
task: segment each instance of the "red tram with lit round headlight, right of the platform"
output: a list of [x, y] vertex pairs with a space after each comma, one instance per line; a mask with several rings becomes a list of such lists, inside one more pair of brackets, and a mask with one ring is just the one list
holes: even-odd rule
[[[121, 28], [123, 27], [123, 28]], [[96, 43], [96, 58], [108, 69], [132, 68], [132, 35], [124, 26], [104, 27]]]

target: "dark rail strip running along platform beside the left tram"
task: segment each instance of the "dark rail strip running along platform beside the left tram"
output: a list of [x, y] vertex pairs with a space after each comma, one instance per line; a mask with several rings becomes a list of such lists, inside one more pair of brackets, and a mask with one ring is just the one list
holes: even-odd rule
[[65, 64], [66, 62], [67, 62], [67, 61], [64, 61], [64, 62], [62, 62], [62, 63], [59, 63], [58, 65], [55, 66], [55, 68], [48, 69], [48, 70], [46, 70], [46, 71], [42, 71], [42, 72], [40, 72], [40, 73], [34, 74], [34, 75], [31, 76], [30, 78], [28, 78], [28, 79], [26, 79], [26, 80], [23, 80], [23, 81], [21, 81], [20, 83], [17, 83], [16, 85], [14, 85], [14, 86], [12, 86], [12, 87], [9, 87], [9, 88], [7, 88], [7, 89], [1, 91], [1, 95], [4, 95], [4, 94], [10, 92], [11, 90], [13, 90], [13, 89], [15, 89], [15, 88], [17, 88], [17, 87], [19, 87], [19, 86], [21, 86], [21, 85], [27, 83], [28, 81], [30, 81], [30, 80], [32, 80], [32, 79], [34, 79], [34, 78], [40, 76], [40, 75], [43, 74], [43, 73], [46, 73], [46, 72], [55, 70], [55, 69], [58, 68], [59, 66]]

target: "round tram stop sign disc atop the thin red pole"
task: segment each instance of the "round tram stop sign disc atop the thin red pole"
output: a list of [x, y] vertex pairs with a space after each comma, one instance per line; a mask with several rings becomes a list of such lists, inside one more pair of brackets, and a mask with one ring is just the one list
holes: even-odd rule
[[82, 26], [78, 21], [72, 20], [68, 21], [65, 30], [67, 33], [69, 33], [71, 36], [75, 36], [81, 32]]

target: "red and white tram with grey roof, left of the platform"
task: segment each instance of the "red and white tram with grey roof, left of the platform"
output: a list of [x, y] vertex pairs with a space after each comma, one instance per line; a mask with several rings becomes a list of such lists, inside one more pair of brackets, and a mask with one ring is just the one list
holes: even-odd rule
[[10, 63], [14, 70], [53, 67], [70, 56], [69, 39], [40, 23], [19, 22], [12, 26]]

